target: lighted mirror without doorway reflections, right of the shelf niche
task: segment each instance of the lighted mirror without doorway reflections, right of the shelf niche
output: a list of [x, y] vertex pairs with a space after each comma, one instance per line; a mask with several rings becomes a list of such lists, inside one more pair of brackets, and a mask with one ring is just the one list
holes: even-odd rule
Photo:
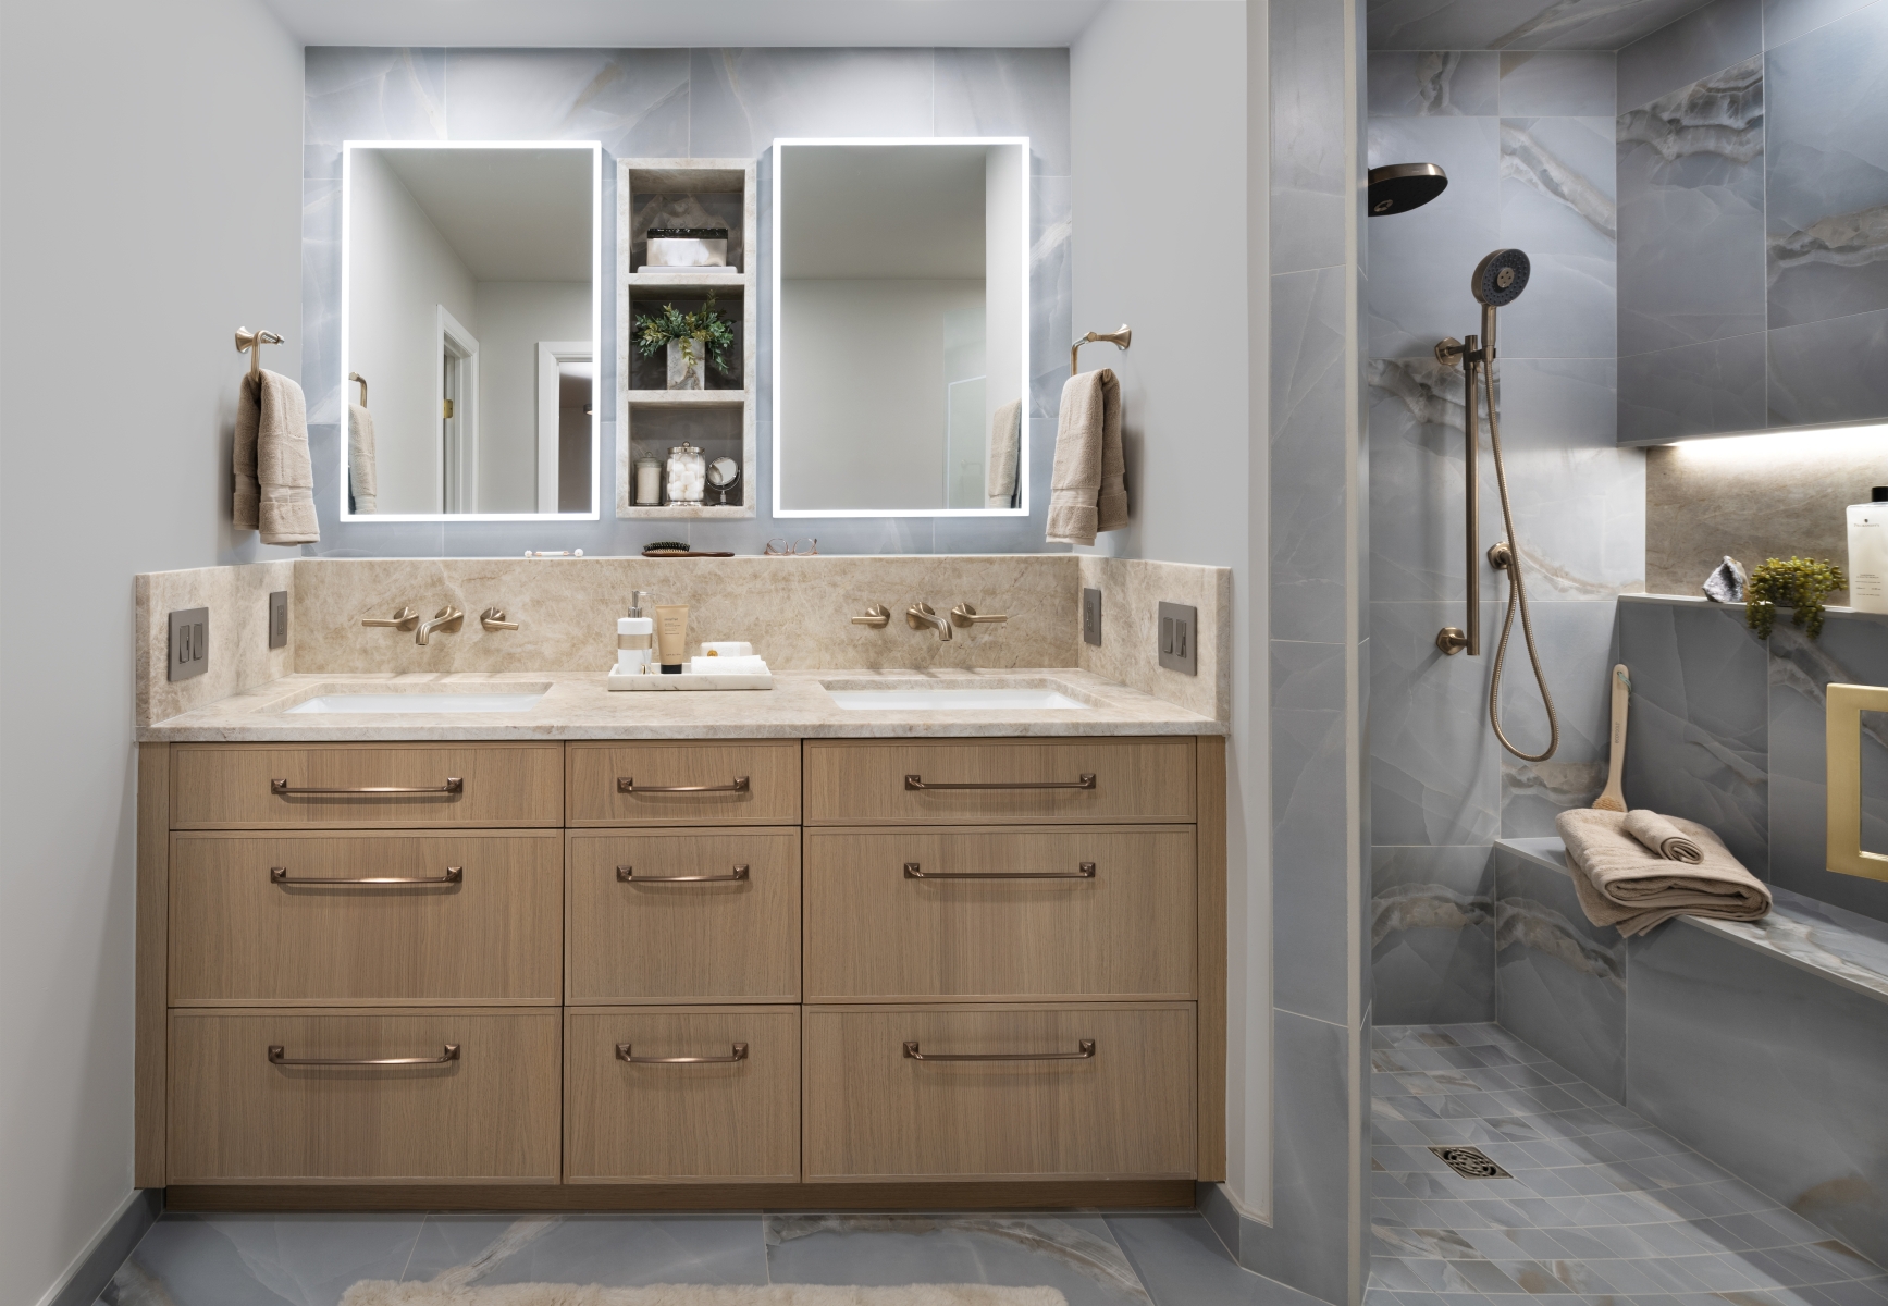
[[1029, 140], [774, 142], [774, 515], [1029, 511]]

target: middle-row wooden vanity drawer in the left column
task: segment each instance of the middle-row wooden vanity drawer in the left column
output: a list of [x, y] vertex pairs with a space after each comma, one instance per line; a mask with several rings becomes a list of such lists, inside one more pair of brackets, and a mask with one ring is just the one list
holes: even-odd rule
[[172, 834], [170, 1000], [555, 1006], [561, 906], [557, 830]]

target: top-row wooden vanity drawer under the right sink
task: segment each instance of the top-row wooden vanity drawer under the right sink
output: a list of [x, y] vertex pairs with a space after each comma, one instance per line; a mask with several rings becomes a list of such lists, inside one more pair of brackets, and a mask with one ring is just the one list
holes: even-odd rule
[[1191, 819], [1188, 736], [806, 744], [806, 825]]

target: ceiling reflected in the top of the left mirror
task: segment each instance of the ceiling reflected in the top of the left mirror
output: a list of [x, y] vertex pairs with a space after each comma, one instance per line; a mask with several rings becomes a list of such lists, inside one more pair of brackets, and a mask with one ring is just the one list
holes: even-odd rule
[[378, 151], [478, 281], [589, 281], [591, 151]]

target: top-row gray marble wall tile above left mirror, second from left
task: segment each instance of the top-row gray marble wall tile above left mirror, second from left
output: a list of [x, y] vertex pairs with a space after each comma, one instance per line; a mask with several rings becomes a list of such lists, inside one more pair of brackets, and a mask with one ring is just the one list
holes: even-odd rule
[[[453, 49], [453, 140], [600, 140], [625, 159], [689, 153], [685, 49]], [[606, 209], [614, 211], [614, 209]], [[614, 247], [614, 240], [604, 242]]]

